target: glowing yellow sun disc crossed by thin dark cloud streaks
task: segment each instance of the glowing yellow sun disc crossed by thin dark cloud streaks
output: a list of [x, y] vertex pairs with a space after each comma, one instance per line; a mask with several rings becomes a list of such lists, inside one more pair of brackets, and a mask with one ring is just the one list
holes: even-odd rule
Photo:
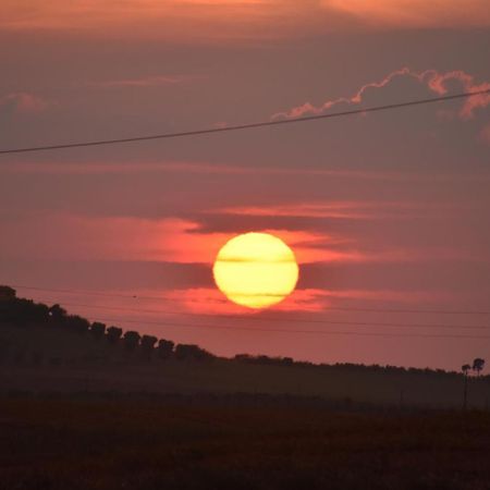
[[293, 250], [269, 233], [245, 233], [226, 242], [212, 269], [218, 289], [233, 303], [260, 309], [281, 303], [296, 287]]

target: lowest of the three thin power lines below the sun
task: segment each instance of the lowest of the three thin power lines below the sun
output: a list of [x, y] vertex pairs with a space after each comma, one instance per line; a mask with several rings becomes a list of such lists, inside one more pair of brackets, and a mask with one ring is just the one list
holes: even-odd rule
[[468, 334], [439, 334], [439, 333], [389, 333], [389, 332], [357, 332], [348, 330], [339, 331], [326, 331], [326, 330], [292, 330], [292, 329], [250, 329], [247, 327], [222, 327], [217, 324], [197, 324], [197, 323], [181, 323], [181, 322], [168, 322], [168, 321], [146, 321], [146, 320], [124, 320], [114, 318], [99, 318], [99, 321], [106, 322], [119, 322], [119, 323], [137, 323], [152, 324], [158, 327], [176, 327], [176, 328], [193, 328], [193, 329], [217, 329], [228, 330], [229, 332], [235, 330], [243, 330], [246, 332], [271, 332], [271, 333], [306, 333], [306, 334], [319, 334], [319, 335], [346, 335], [346, 336], [384, 336], [384, 338], [421, 338], [421, 339], [477, 339], [477, 340], [490, 340], [490, 335], [468, 335]]

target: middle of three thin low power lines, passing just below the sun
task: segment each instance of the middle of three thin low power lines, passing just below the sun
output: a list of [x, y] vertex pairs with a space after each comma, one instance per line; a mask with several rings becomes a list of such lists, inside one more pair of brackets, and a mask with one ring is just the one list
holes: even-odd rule
[[469, 324], [446, 324], [446, 323], [392, 323], [378, 321], [340, 321], [340, 320], [318, 320], [311, 318], [259, 318], [259, 317], [238, 317], [234, 315], [217, 315], [217, 314], [194, 314], [188, 311], [168, 311], [156, 309], [124, 308], [119, 306], [107, 305], [81, 305], [73, 303], [63, 303], [63, 306], [74, 308], [91, 308], [91, 309], [110, 309], [115, 311], [136, 311], [140, 314], [157, 314], [164, 316], [186, 316], [186, 317], [206, 317], [232, 320], [245, 320], [250, 322], [280, 322], [280, 323], [317, 323], [317, 324], [344, 324], [357, 327], [387, 327], [387, 328], [413, 328], [413, 329], [454, 329], [454, 330], [490, 330], [490, 326], [469, 326]]

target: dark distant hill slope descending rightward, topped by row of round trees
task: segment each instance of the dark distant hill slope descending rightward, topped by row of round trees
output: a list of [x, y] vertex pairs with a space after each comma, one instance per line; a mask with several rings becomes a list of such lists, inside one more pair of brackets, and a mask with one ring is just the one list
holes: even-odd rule
[[[0, 286], [0, 392], [265, 393], [460, 407], [463, 389], [463, 375], [442, 370], [219, 358], [196, 345], [90, 323]], [[490, 378], [471, 378], [470, 406], [489, 402]]]

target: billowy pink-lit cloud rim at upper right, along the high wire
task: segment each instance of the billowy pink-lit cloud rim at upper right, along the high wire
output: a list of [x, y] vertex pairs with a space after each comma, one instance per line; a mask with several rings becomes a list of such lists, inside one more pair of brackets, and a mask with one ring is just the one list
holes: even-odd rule
[[[384, 78], [363, 85], [353, 96], [340, 97], [338, 99], [327, 100], [320, 106], [314, 106], [310, 102], [305, 102], [301, 106], [294, 107], [283, 112], [278, 112], [272, 115], [277, 119], [295, 119], [310, 114], [322, 114], [340, 105], [360, 106], [366, 102], [367, 94], [373, 91], [382, 91], [390, 85], [400, 81], [412, 81], [416, 86], [427, 90], [430, 94], [439, 96], [453, 93], [453, 87], [457, 93], [462, 91], [480, 91], [490, 89], [490, 83], [476, 83], [474, 76], [463, 72], [453, 71], [440, 73], [436, 70], [427, 70], [425, 72], [415, 72], [408, 68], [403, 68], [388, 74]], [[463, 102], [460, 110], [460, 117], [464, 120], [470, 119], [477, 109], [482, 109], [490, 106], [490, 94], [474, 96]]]

